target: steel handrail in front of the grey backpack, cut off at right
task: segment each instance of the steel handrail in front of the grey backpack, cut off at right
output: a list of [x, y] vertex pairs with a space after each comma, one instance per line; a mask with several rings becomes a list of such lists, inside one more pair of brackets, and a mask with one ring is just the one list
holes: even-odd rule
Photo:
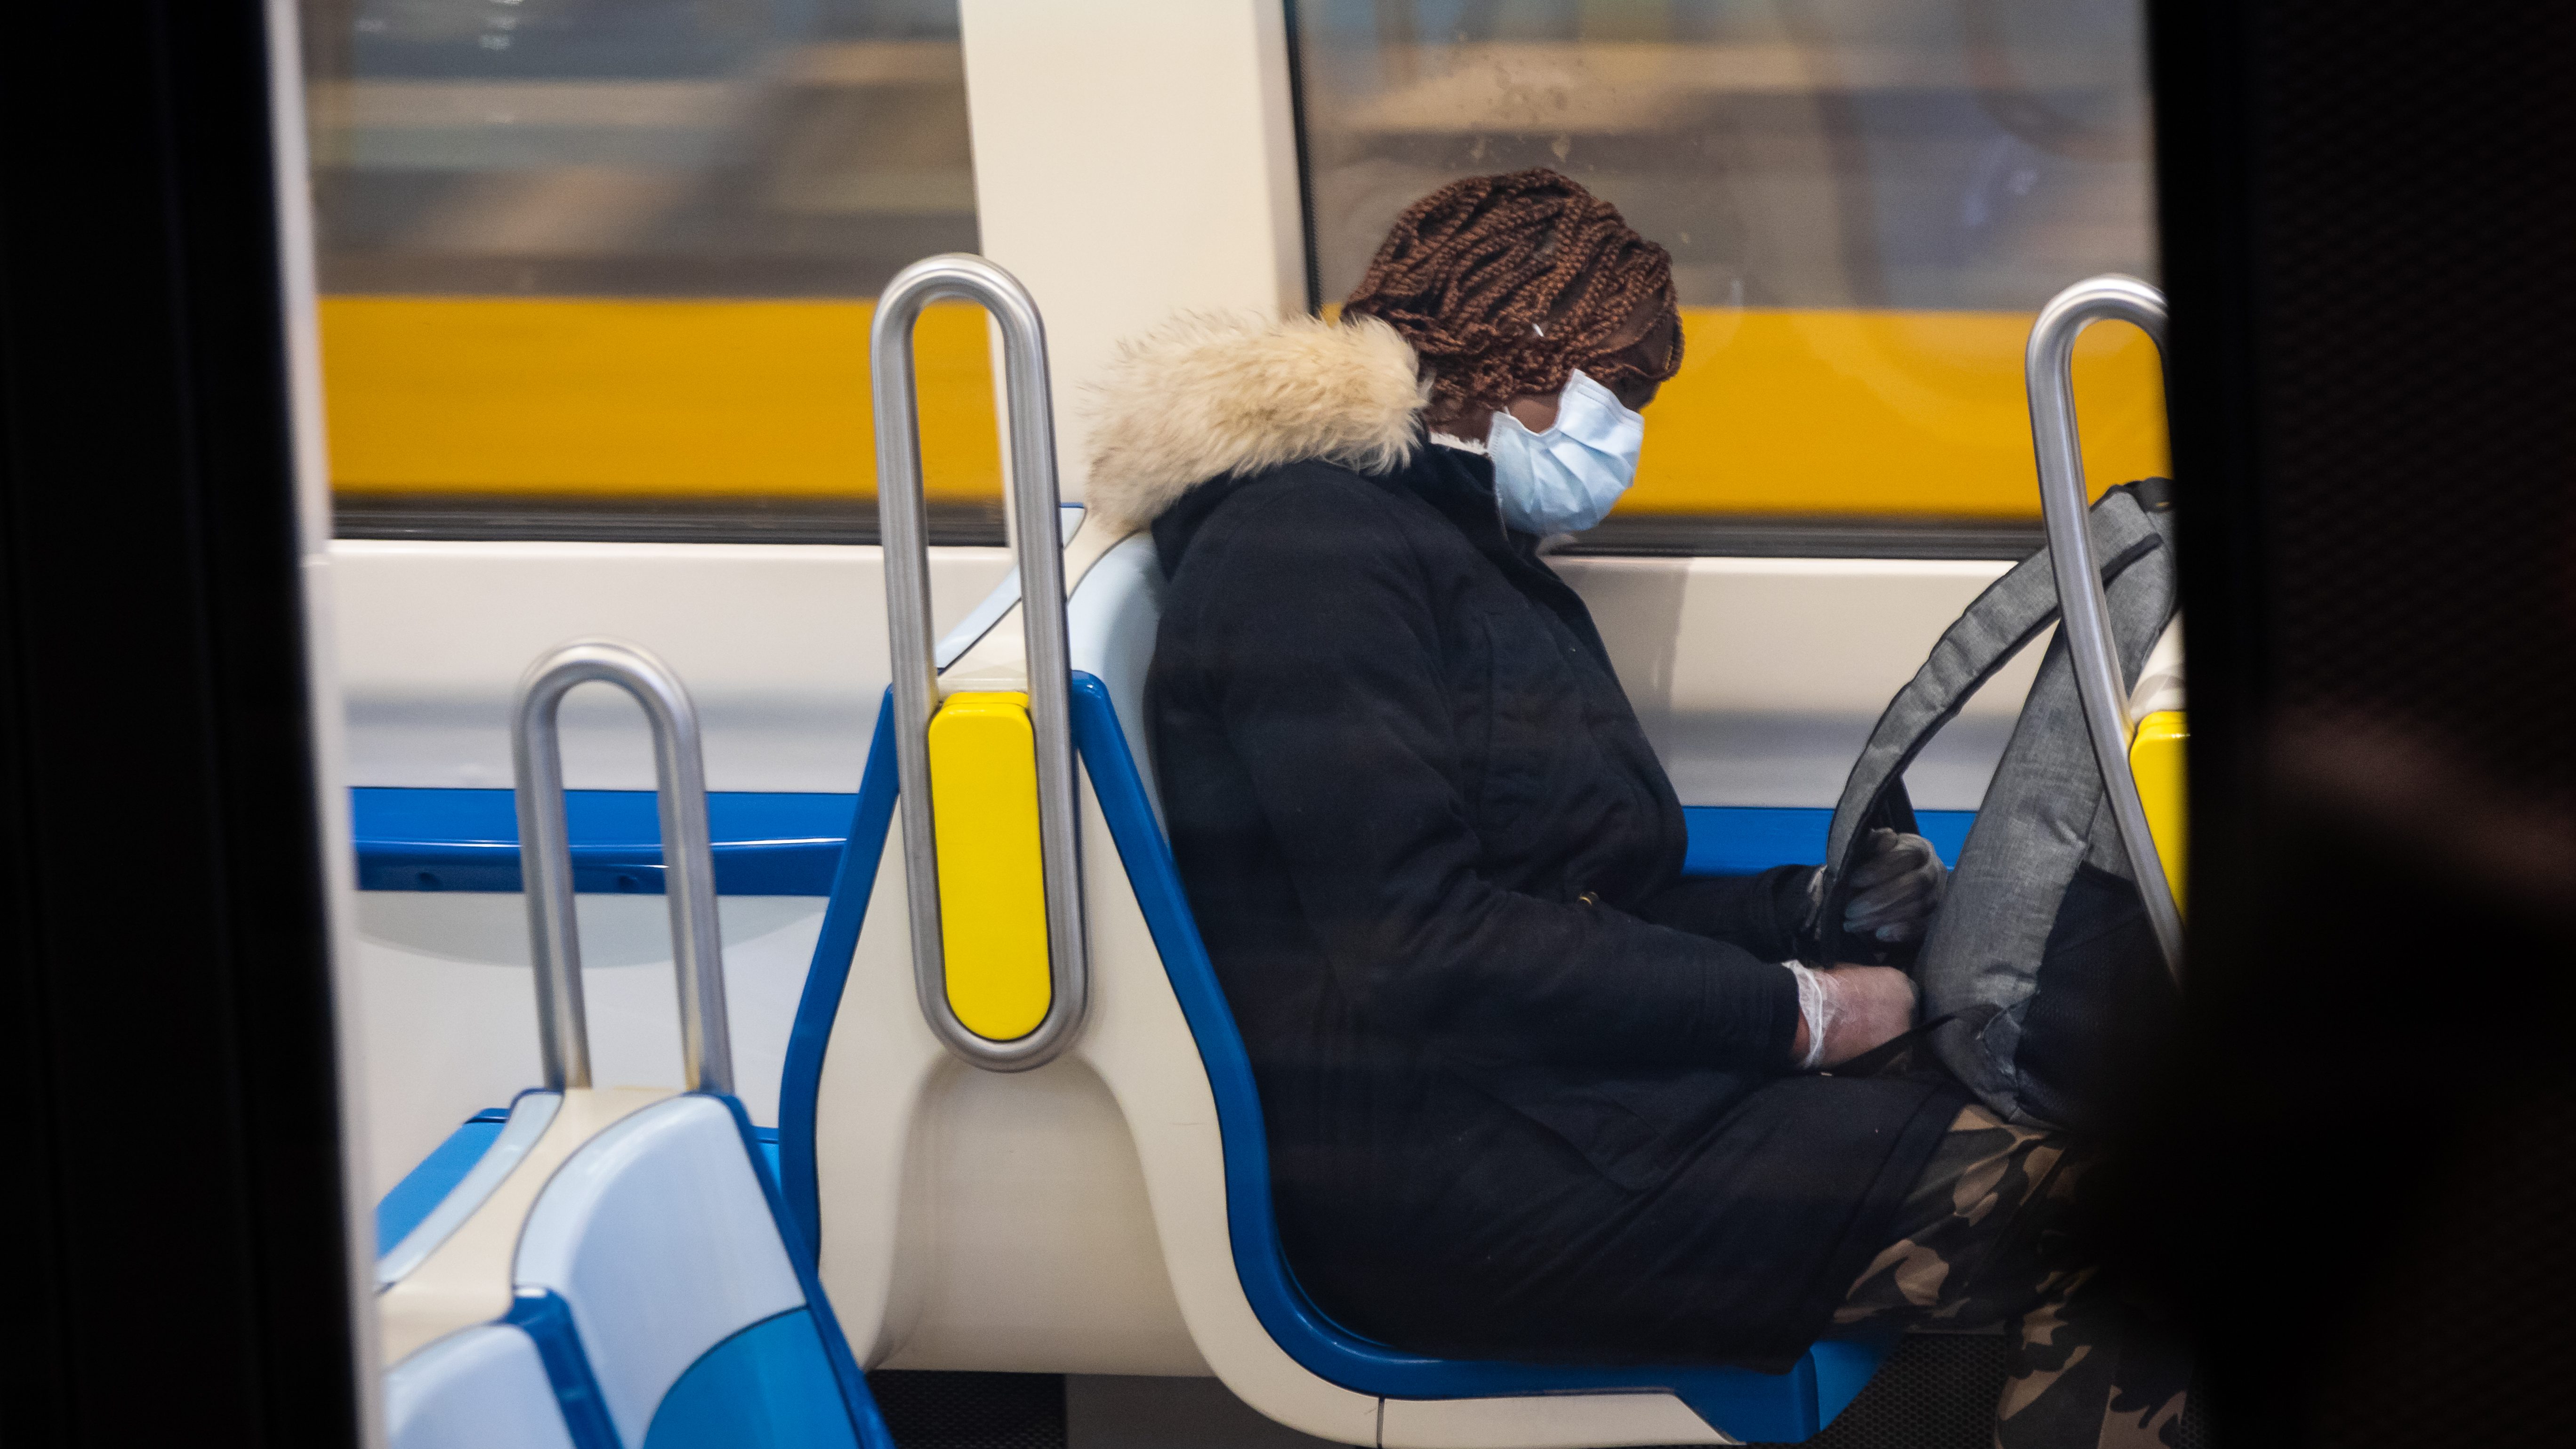
[[2040, 459], [2040, 513], [2048, 521], [2048, 557], [2058, 580], [2058, 627], [2076, 670], [2076, 699], [2084, 701], [2084, 730], [2092, 735], [2102, 786], [2110, 792], [2112, 822], [2128, 866], [2146, 897], [2146, 920], [2156, 931], [2164, 967], [2182, 980], [2182, 908], [2164, 877], [2156, 835], [2146, 825], [2138, 776], [2128, 766], [2136, 719], [2128, 712], [2128, 683], [2120, 678], [2120, 645], [2110, 629], [2110, 603], [2102, 596], [2102, 567], [2092, 547], [2092, 511], [2084, 498], [2084, 449], [2076, 431], [2076, 338], [2094, 322], [2133, 322], [2164, 356], [2164, 294], [2136, 276], [2094, 276], [2058, 291], [2030, 327], [2022, 376], [2030, 387], [2030, 441]]

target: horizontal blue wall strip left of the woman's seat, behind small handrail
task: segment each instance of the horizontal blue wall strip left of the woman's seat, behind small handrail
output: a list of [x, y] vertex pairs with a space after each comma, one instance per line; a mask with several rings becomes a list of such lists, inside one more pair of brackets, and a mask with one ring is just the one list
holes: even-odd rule
[[[518, 890], [518, 815], [507, 789], [350, 794], [358, 890]], [[649, 789], [567, 792], [572, 890], [662, 895], [662, 828]], [[706, 797], [724, 895], [829, 895], [848, 838], [848, 794]]]

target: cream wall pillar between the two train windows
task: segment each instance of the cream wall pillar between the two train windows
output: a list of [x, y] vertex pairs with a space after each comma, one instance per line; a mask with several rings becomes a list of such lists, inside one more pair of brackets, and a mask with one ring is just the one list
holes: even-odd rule
[[984, 255], [1046, 315], [1064, 498], [1084, 384], [1180, 309], [1306, 307], [1280, 0], [963, 0]]

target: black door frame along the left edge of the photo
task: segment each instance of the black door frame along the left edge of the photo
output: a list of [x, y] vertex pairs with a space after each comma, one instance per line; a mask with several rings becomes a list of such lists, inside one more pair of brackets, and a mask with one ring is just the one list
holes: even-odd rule
[[268, 44], [131, 0], [0, 46], [8, 1444], [355, 1444], [371, 1400]]

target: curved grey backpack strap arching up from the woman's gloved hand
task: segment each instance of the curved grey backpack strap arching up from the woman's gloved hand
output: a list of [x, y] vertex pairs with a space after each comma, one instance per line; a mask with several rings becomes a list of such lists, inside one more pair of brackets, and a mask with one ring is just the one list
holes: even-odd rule
[[[2148, 500], [2154, 503], [2154, 500]], [[2136, 485], [2123, 485], [2102, 495], [2092, 508], [2094, 547], [2102, 552], [2102, 585], [2128, 572], [2130, 565], [2164, 547], [2164, 534], [2148, 521]], [[2058, 619], [2058, 585], [2048, 572], [2048, 549], [2012, 565], [1994, 580], [1976, 603], [1942, 632], [1914, 678], [1896, 691], [1886, 714], [1870, 730], [1852, 763], [1852, 776], [1842, 784], [1834, 804], [1834, 825], [1824, 846], [1824, 905], [1816, 913], [1814, 941], [1819, 967], [1834, 962], [1878, 959], [1873, 944], [1860, 954], [1842, 941], [1842, 910], [1850, 905], [1852, 851], [1870, 825], [1888, 822], [1904, 807], [1904, 773], [1932, 735], [1940, 732], [1960, 706], [1986, 686], [2025, 645], [2040, 637]], [[1891, 810], [1893, 804], [1893, 810]]]

